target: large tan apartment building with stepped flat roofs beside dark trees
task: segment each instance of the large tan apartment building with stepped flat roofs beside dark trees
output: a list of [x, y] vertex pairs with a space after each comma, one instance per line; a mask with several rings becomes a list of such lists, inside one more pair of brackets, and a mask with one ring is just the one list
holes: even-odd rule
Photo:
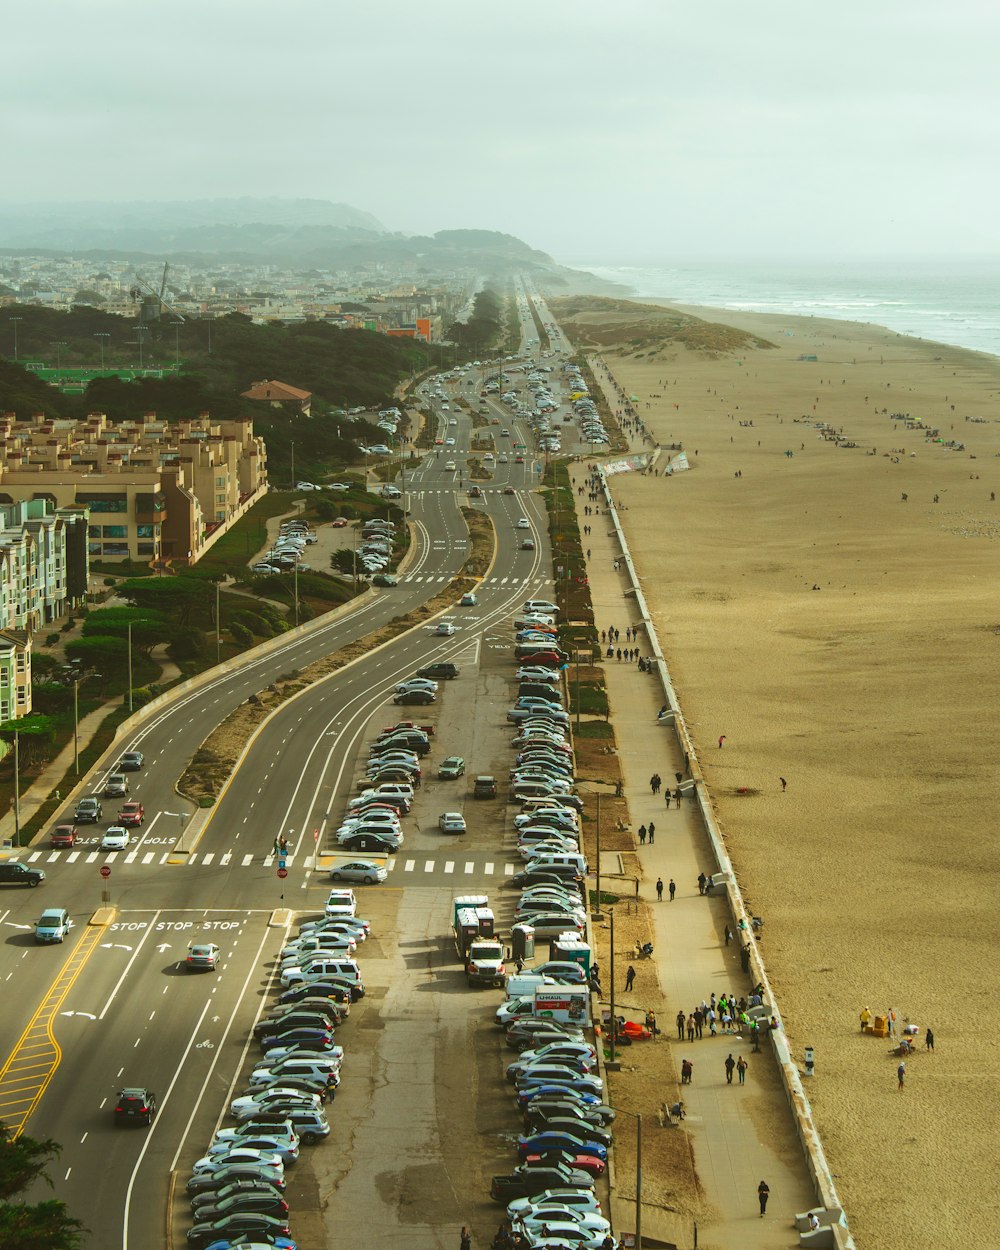
[[86, 509], [91, 560], [195, 564], [266, 490], [250, 418], [0, 418], [0, 504]]

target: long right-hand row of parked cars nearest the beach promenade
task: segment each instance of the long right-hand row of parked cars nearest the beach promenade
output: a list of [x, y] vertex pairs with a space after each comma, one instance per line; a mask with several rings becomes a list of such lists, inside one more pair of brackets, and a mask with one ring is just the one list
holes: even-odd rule
[[[554, 605], [542, 610], [531, 601], [524, 605], [515, 628], [551, 631], [555, 644], [556, 619]], [[514, 818], [524, 860], [524, 868], [510, 879], [520, 891], [515, 924], [531, 925], [541, 938], [579, 934], [586, 925], [586, 861], [580, 846], [581, 802], [572, 792], [561, 672], [530, 665], [521, 666], [516, 678], [512, 792], [518, 795], [519, 786], [530, 781], [531, 794], [524, 796], [522, 810]], [[536, 792], [536, 786], [542, 791]], [[586, 982], [576, 964], [550, 961], [531, 972], [546, 984]], [[609, 1126], [615, 1112], [602, 1101], [596, 1050], [574, 1021], [534, 1016], [530, 998], [510, 998], [496, 1012], [496, 1024], [506, 1031], [508, 1045], [519, 1051], [506, 1068], [506, 1079], [514, 1086], [522, 1125], [516, 1139], [518, 1164], [492, 1178], [490, 1196], [506, 1204], [511, 1228], [528, 1246], [599, 1250], [611, 1225], [601, 1214], [594, 1184], [608, 1166]]]

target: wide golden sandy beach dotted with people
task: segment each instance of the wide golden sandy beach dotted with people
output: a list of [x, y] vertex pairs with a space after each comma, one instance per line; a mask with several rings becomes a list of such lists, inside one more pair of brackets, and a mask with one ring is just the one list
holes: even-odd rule
[[[614, 492], [792, 1052], [815, 1048], [851, 1231], [865, 1250], [1000, 1241], [1000, 360], [685, 311], [774, 348], [605, 336], [639, 416], [692, 466]], [[889, 1042], [860, 1034], [866, 1005], [919, 1025], [902, 1090]]]

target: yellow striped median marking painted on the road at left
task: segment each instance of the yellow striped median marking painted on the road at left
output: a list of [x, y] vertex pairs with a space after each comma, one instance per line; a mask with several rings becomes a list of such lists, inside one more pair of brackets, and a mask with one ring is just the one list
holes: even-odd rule
[[0, 1068], [0, 1120], [15, 1138], [24, 1132], [29, 1116], [55, 1076], [62, 1059], [55, 1040], [56, 1015], [104, 935], [102, 928], [88, 929]]

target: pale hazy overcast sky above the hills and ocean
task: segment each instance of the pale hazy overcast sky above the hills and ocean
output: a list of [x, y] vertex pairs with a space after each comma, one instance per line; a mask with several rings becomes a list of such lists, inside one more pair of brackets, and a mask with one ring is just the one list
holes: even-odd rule
[[1000, 254], [995, 0], [31, 0], [0, 200], [285, 195], [569, 262]]

